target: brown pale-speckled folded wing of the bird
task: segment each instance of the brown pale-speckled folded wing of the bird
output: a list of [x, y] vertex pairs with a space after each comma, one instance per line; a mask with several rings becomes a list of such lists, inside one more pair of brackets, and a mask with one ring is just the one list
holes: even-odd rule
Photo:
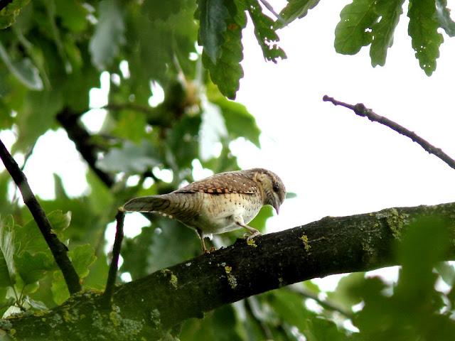
[[203, 180], [190, 183], [189, 185], [180, 188], [173, 193], [198, 192], [210, 194], [255, 194], [257, 193], [257, 185], [255, 181], [251, 180], [251, 178], [243, 174], [242, 171], [236, 171], [215, 174]]

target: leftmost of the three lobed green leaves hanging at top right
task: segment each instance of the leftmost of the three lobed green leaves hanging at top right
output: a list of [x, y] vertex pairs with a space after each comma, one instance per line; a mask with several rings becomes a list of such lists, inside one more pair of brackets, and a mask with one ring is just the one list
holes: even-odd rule
[[335, 50], [343, 55], [355, 55], [362, 46], [372, 41], [371, 28], [378, 21], [377, 0], [353, 0], [340, 13], [341, 21], [335, 28]]

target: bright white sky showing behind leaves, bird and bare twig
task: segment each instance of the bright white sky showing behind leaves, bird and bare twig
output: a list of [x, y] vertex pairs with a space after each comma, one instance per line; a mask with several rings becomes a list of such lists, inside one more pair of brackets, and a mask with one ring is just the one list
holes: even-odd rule
[[[285, 3], [269, 2], [277, 11]], [[354, 56], [333, 48], [339, 13], [349, 2], [321, 1], [304, 20], [279, 31], [288, 59], [277, 65], [264, 62], [251, 26], [244, 33], [245, 77], [237, 101], [256, 117], [262, 149], [242, 141], [232, 148], [242, 168], [269, 168], [297, 194], [269, 220], [269, 230], [328, 215], [454, 201], [453, 169], [395, 131], [322, 101], [328, 94], [363, 102], [455, 157], [454, 41], [444, 34], [437, 70], [427, 77], [414, 58], [404, 13], [385, 67], [373, 69], [369, 47]], [[60, 130], [40, 139], [26, 174], [32, 189], [49, 197], [52, 173], [63, 175], [68, 193], [77, 195], [84, 170]]]

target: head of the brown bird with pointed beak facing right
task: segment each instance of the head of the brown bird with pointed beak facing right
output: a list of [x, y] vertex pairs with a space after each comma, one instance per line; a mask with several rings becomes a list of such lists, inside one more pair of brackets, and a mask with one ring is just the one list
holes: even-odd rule
[[279, 176], [267, 169], [255, 168], [254, 178], [264, 193], [264, 205], [272, 205], [279, 213], [279, 206], [286, 197], [286, 188]]

